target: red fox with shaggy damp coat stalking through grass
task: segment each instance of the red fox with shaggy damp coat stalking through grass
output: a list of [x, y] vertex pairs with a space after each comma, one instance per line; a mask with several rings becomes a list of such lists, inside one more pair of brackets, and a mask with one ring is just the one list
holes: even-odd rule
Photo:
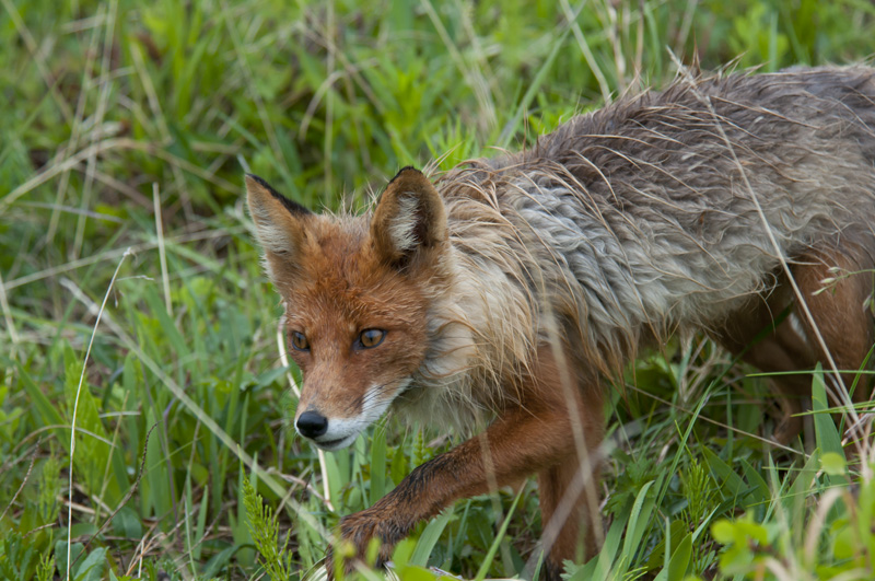
[[[762, 371], [820, 362], [840, 387], [875, 341], [867, 67], [681, 77], [434, 182], [405, 167], [363, 216], [246, 187], [304, 375], [302, 437], [339, 450], [389, 408], [488, 423], [342, 520], [359, 558], [537, 475], [558, 578], [598, 548], [604, 394], [638, 349], [704, 332]], [[775, 377], [777, 440], [809, 385]]]

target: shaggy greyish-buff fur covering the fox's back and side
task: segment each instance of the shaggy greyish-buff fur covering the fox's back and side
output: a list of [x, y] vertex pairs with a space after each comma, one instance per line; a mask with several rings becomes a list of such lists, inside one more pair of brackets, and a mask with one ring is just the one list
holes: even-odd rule
[[875, 254], [875, 71], [681, 79], [438, 187], [465, 266], [501, 268], [594, 349], [628, 351], [719, 325], [768, 292], [778, 253]]

